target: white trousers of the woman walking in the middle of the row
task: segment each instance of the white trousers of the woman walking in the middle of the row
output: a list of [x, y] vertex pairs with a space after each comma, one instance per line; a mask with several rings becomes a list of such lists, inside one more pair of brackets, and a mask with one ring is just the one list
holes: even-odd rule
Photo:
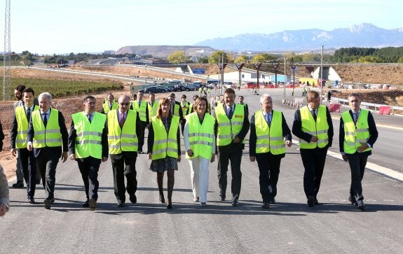
[[198, 156], [189, 160], [189, 163], [191, 165], [193, 197], [200, 197], [200, 202], [207, 202], [208, 166], [210, 160]]

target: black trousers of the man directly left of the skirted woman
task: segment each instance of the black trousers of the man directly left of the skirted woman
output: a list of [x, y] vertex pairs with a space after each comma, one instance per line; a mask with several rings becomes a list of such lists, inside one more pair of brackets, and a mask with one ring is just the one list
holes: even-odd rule
[[[110, 155], [112, 169], [114, 171], [114, 192], [118, 203], [125, 202], [125, 191], [130, 197], [137, 190], [136, 160], [137, 152], [123, 152], [118, 155]], [[125, 177], [127, 185], [125, 186]]]

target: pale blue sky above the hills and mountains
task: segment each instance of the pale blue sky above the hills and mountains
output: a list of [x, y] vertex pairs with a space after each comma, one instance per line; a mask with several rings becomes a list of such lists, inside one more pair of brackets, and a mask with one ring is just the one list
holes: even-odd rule
[[60, 54], [193, 45], [245, 33], [331, 31], [362, 22], [397, 29], [403, 28], [402, 10], [402, 0], [11, 0], [11, 50]]

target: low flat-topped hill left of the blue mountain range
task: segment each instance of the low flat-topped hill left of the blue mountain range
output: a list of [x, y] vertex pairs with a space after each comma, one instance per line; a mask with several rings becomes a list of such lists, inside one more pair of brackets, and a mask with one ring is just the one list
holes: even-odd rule
[[125, 46], [116, 51], [120, 54], [136, 54], [136, 55], [153, 55], [154, 57], [168, 57], [175, 51], [184, 51], [189, 56], [209, 56], [212, 52], [217, 51], [209, 46], [191, 46], [191, 45], [138, 45]]

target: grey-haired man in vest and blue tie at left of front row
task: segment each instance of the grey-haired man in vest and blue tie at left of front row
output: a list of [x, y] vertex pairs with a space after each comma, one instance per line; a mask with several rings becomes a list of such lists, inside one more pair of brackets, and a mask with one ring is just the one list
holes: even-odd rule
[[67, 160], [67, 132], [64, 116], [60, 111], [50, 108], [52, 95], [48, 92], [39, 94], [39, 111], [32, 112], [27, 134], [27, 148], [34, 150], [36, 167], [41, 171], [46, 199], [45, 209], [50, 209], [55, 197], [55, 174], [59, 158]]

